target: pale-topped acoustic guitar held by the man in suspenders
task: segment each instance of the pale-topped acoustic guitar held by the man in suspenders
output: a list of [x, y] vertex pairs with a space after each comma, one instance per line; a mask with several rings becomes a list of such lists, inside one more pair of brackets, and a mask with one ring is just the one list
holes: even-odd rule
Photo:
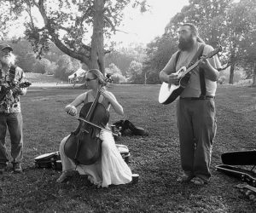
[[177, 75], [177, 78], [179, 78], [177, 84], [163, 82], [160, 87], [158, 99], [160, 104], [166, 105], [175, 101], [177, 96], [179, 96], [183, 92], [183, 89], [185, 89], [188, 85], [191, 71], [198, 66], [201, 61], [206, 60], [207, 58], [212, 58], [213, 55], [218, 54], [218, 52], [221, 50], [222, 47], [218, 46], [217, 49], [213, 49], [208, 55], [203, 55], [200, 60], [197, 60], [194, 64], [189, 66], [189, 68], [186, 68], [186, 66], [181, 67], [177, 72], [174, 73]]

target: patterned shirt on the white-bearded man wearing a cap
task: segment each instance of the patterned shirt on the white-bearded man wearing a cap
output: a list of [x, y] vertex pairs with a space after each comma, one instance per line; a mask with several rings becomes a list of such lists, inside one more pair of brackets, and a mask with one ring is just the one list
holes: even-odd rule
[[[0, 100], [1, 113], [21, 112], [20, 95], [13, 94], [12, 89], [9, 88], [12, 83], [21, 83], [24, 81], [25, 74], [19, 66], [16, 66], [15, 68], [15, 78], [13, 80], [10, 78], [10, 71], [3, 72], [0, 67], [0, 94], [3, 93], [4, 89], [8, 89], [6, 95], [3, 97], [3, 100]], [[26, 88], [22, 88], [21, 90], [26, 92]]]

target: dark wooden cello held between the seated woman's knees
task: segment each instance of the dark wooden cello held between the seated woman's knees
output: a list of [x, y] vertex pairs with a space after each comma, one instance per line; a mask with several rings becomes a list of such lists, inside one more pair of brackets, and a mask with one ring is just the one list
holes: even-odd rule
[[[107, 80], [106, 80], [107, 81]], [[64, 152], [75, 164], [94, 164], [101, 158], [102, 140], [97, 137], [105, 129], [109, 112], [101, 103], [99, 89], [93, 102], [84, 104], [79, 112], [79, 127], [73, 131], [64, 144]]]

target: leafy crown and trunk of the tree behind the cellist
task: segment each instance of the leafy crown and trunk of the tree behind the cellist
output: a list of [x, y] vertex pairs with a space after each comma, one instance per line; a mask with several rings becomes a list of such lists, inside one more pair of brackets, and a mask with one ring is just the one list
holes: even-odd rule
[[38, 57], [52, 41], [65, 54], [104, 72], [104, 37], [117, 31], [128, 6], [142, 12], [148, 7], [146, 0], [1, 1], [0, 28], [4, 36], [12, 21], [24, 17], [26, 38]]

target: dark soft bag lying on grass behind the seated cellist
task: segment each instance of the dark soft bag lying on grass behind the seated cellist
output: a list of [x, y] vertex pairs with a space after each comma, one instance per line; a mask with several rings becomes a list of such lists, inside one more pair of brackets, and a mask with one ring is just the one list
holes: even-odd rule
[[142, 127], [136, 127], [129, 120], [119, 120], [113, 125], [119, 130], [121, 135], [129, 136], [129, 135], [148, 135]]

